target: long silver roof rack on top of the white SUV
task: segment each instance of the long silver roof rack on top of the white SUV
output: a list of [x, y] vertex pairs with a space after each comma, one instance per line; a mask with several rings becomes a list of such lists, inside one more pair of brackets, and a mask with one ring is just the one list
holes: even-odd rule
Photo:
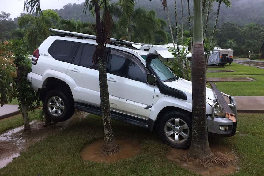
[[[90, 38], [90, 39], [96, 39], [96, 36], [94, 35], [90, 35], [90, 34], [83, 34], [83, 33], [78, 33], [78, 32], [71, 32], [71, 31], [64, 31], [64, 30], [60, 30], [60, 29], [52, 29], [50, 28], [50, 31], [55, 31], [55, 32], [60, 32], [63, 34], [68, 34], [70, 36], [79, 36], [79, 37], [85, 37], [85, 38]], [[111, 42], [113, 43], [124, 43], [126, 45], [140, 45], [139, 43], [135, 43], [135, 42], [130, 42], [130, 41], [126, 41], [126, 40], [121, 40], [121, 39], [115, 39], [115, 38], [110, 38]]]

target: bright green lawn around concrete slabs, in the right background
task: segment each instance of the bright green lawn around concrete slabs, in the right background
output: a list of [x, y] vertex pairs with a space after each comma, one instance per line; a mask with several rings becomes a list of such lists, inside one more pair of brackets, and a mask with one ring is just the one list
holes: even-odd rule
[[225, 68], [209, 68], [208, 70], [234, 70], [234, 72], [206, 73], [206, 77], [250, 77], [255, 81], [217, 82], [221, 91], [232, 96], [264, 96], [264, 69], [232, 63]]

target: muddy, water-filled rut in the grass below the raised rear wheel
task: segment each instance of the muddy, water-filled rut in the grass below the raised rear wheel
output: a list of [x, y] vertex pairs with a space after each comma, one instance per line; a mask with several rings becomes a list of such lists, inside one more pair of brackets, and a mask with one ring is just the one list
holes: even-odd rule
[[[0, 168], [5, 167], [8, 163], [17, 158], [21, 152], [26, 151], [29, 146], [44, 140], [49, 134], [58, 133], [70, 125], [81, 121], [88, 113], [78, 112], [69, 120], [60, 123], [52, 123], [44, 127], [43, 121], [33, 121], [30, 123], [31, 132], [23, 135], [23, 126], [7, 131], [0, 135]], [[3, 119], [5, 120], [5, 119]], [[2, 120], [1, 120], [2, 121]], [[1, 122], [0, 121], [0, 122]]]

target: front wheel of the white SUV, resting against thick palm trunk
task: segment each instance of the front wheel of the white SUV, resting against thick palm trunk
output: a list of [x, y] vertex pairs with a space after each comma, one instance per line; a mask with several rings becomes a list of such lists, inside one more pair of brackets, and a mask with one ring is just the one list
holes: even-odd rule
[[173, 148], [190, 148], [192, 120], [187, 113], [181, 111], [167, 112], [160, 117], [158, 130], [162, 140]]

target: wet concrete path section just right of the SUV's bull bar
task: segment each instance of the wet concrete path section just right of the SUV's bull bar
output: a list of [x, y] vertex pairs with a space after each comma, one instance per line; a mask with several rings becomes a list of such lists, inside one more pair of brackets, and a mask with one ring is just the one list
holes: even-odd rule
[[264, 96], [234, 96], [237, 112], [264, 113]]

